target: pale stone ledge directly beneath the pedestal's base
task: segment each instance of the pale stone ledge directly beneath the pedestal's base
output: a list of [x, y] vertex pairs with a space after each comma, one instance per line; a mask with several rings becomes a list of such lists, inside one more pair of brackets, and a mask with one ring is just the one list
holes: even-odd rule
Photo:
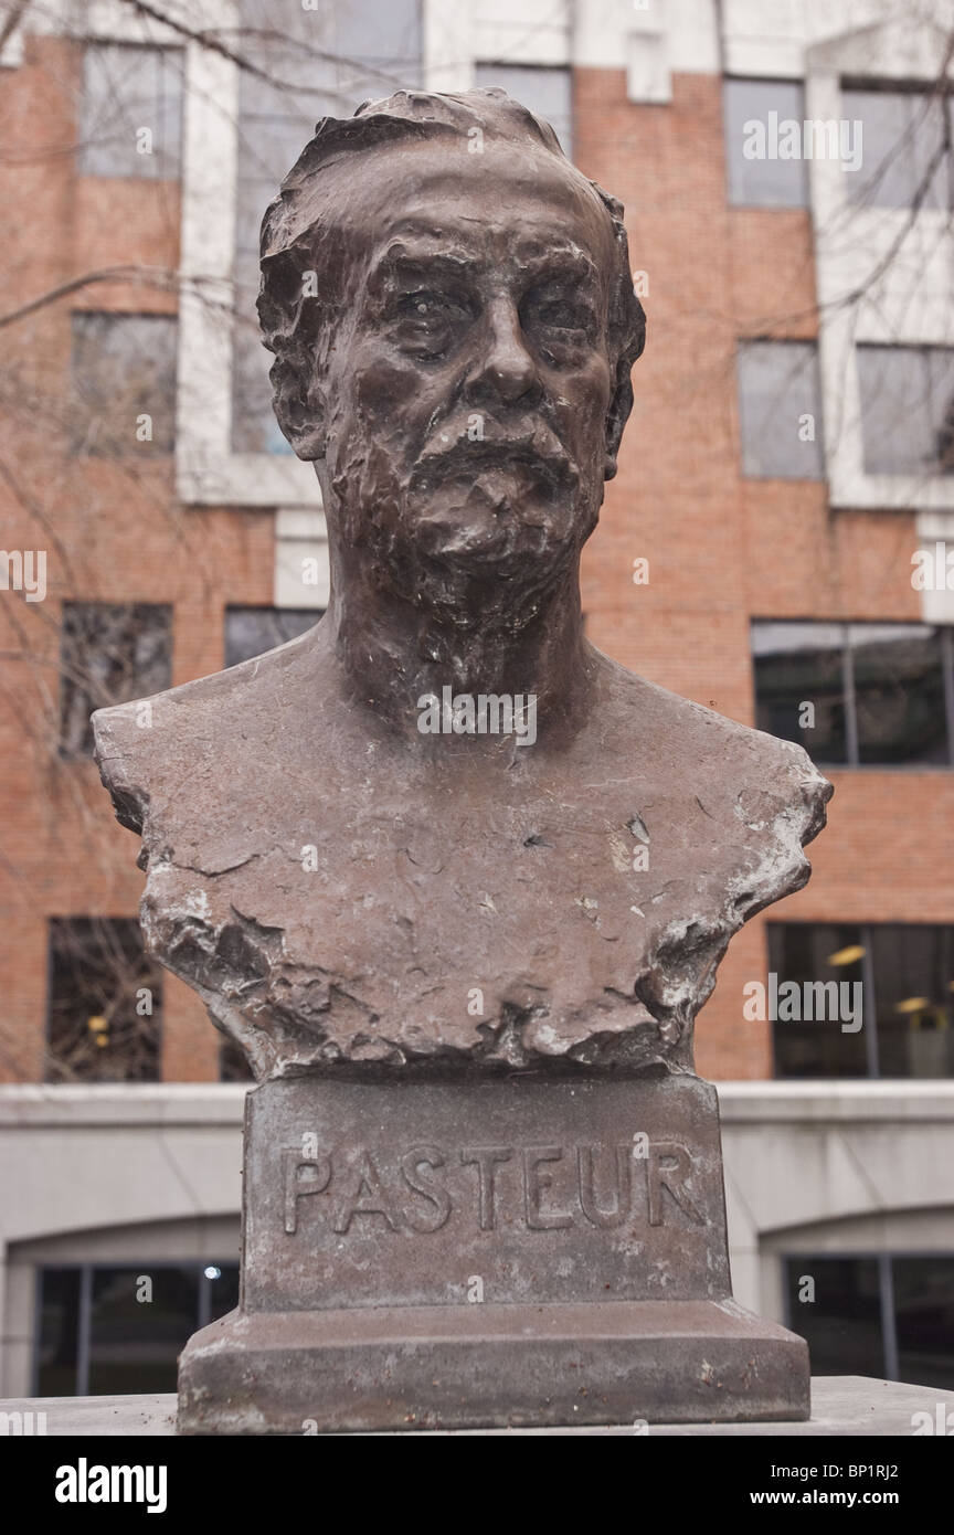
[[[913, 1414], [926, 1412], [937, 1421], [937, 1408], [954, 1418], [954, 1391], [908, 1386], [868, 1375], [816, 1375], [811, 1382], [811, 1418], [807, 1423], [650, 1423], [649, 1435], [681, 1438], [867, 1438], [914, 1437]], [[172, 1437], [175, 1394], [152, 1397], [34, 1397], [0, 1401], [2, 1412], [46, 1412], [48, 1437]], [[442, 1431], [417, 1431], [448, 1437]], [[600, 1435], [632, 1438], [633, 1426], [560, 1429], [466, 1429], [452, 1437], [474, 1435]]]

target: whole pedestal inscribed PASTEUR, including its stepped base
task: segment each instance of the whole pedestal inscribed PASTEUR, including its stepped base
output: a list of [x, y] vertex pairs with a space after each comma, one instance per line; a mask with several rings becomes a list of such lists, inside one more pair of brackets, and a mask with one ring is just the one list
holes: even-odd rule
[[179, 1432], [808, 1417], [804, 1340], [732, 1300], [707, 1082], [305, 1076], [245, 1113], [239, 1308]]

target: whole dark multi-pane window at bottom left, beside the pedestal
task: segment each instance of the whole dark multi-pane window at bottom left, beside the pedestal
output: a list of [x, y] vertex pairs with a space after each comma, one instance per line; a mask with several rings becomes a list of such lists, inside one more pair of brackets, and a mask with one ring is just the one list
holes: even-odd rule
[[238, 1305], [238, 1263], [77, 1263], [40, 1268], [34, 1394], [138, 1395], [176, 1389], [198, 1328]]

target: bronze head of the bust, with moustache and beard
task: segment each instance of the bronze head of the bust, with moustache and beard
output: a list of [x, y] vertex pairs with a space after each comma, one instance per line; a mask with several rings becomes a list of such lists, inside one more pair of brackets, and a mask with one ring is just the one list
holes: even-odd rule
[[620, 204], [503, 91], [402, 91], [317, 124], [261, 269], [275, 411], [339, 563], [451, 622], [486, 622], [502, 585], [511, 619], [535, 611], [632, 407], [646, 322]]

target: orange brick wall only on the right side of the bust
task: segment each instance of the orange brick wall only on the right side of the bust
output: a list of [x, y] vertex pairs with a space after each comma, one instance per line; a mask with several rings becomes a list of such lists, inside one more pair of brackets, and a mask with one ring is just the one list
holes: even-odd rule
[[[633, 106], [623, 71], [577, 71], [575, 112], [577, 161], [626, 204], [632, 266], [649, 275], [637, 405], [584, 563], [587, 634], [752, 725], [752, 619], [920, 619], [914, 516], [831, 513], [824, 484], [741, 476], [736, 341], [814, 336], [814, 284], [807, 212], [727, 207], [721, 81], [676, 75], [670, 106]], [[632, 583], [637, 556], [649, 586]], [[771, 919], [951, 921], [952, 775], [831, 777], [813, 878]], [[765, 969], [758, 916], [699, 1015], [702, 1074], [771, 1073], [770, 1024], [742, 1021], [742, 985]]]

